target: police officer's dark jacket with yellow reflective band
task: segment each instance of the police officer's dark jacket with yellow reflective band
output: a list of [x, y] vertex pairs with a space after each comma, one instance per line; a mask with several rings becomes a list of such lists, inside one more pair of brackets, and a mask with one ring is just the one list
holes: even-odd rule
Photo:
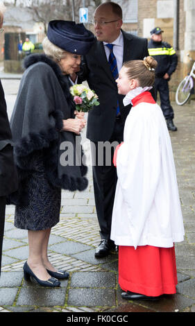
[[155, 69], [155, 76], [162, 78], [164, 74], [173, 74], [178, 64], [178, 57], [176, 51], [167, 42], [149, 41], [149, 55], [151, 55], [157, 62], [158, 66]]

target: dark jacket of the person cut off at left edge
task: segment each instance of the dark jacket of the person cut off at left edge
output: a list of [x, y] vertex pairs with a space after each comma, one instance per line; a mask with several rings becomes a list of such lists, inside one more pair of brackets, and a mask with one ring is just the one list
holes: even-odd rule
[[17, 171], [12, 150], [12, 134], [0, 80], [0, 196], [7, 196], [16, 191], [17, 182]]

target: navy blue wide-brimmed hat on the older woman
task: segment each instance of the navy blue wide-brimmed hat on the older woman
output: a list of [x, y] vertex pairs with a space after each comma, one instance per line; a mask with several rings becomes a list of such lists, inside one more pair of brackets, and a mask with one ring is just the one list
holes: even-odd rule
[[79, 55], [86, 54], [94, 43], [94, 34], [83, 24], [65, 20], [49, 22], [47, 37], [60, 49]]

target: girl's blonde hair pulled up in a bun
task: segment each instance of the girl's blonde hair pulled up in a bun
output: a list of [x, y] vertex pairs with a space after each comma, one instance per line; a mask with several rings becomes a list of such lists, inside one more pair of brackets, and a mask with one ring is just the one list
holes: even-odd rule
[[140, 87], [152, 86], [155, 80], [155, 68], [158, 63], [151, 56], [144, 60], [130, 60], [124, 62], [124, 67], [128, 69], [129, 79], [137, 79]]

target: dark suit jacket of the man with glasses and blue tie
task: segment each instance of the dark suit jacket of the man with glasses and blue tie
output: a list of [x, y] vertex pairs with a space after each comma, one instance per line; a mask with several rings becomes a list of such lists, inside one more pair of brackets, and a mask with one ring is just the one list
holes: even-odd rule
[[[124, 58], [143, 60], [149, 55], [146, 39], [122, 31], [124, 35]], [[78, 74], [79, 82], [87, 80], [91, 89], [99, 96], [100, 105], [95, 106], [88, 114], [87, 138], [92, 141], [108, 141], [111, 138], [119, 100], [121, 119], [125, 121], [131, 105], [124, 108], [123, 95], [118, 94], [117, 83], [112, 77], [110, 66], [105, 55], [103, 42], [96, 41], [83, 59], [83, 67]], [[78, 83], [79, 83], [78, 82]]]

